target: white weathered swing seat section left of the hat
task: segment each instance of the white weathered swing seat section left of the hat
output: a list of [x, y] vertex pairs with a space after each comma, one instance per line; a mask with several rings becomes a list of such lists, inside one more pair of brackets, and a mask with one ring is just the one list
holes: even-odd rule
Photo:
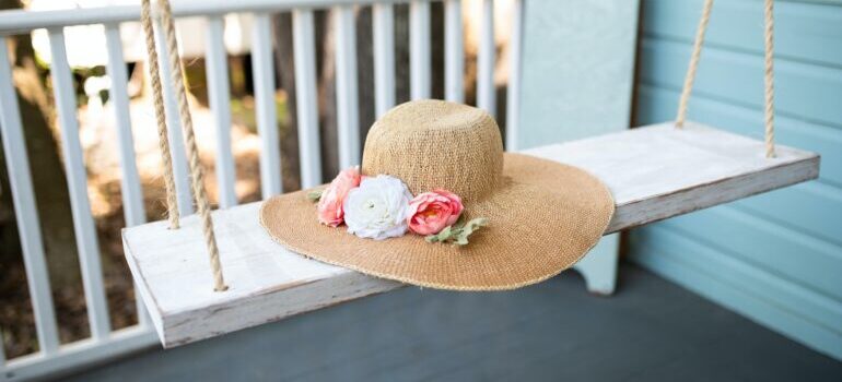
[[165, 347], [400, 286], [286, 251], [260, 227], [259, 207], [257, 202], [214, 212], [222, 264], [231, 279], [225, 293], [209, 288], [209, 263], [201, 256], [195, 215], [183, 219], [178, 230], [168, 230], [165, 222], [124, 230], [131, 273]]

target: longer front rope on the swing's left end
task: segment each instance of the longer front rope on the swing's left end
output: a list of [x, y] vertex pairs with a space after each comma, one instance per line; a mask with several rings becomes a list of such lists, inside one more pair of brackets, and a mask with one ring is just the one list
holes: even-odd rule
[[161, 11], [161, 22], [163, 24], [163, 32], [169, 55], [168, 59], [172, 81], [175, 87], [176, 97], [178, 98], [178, 115], [182, 120], [182, 128], [187, 143], [191, 188], [201, 218], [204, 244], [208, 247], [208, 254], [210, 255], [211, 272], [213, 273], [213, 290], [222, 291], [227, 289], [227, 286], [225, 286], [225, 280], [222, 277], [222, 266], [220, 264], [219, 248], [217, 247], [217, 237], [213, 234], [210, 203], [208, 202], [208, 194], [204, 190], [202, 166], [201, 162], [199, 162], [199, 151], [196, 146], [196, 135], [192, 130], [192, 118], [190, 117], [190, 109], [187, 104], [187, 92], [184, 87], [185, 80], [182, 71], [182, 58], [178, 53], [178, 43], [175, 37], [175, 23], [173, 22], [169, 1], [159, 0], [157, 5]]

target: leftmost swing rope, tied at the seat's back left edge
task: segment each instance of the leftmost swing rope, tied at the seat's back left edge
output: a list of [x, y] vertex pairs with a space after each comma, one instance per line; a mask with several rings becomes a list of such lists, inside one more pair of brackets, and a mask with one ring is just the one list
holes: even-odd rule
[[175, 199], [175, 178], [173, 177], [173, 160], [169, 154], [169, 140], [166, 136], [166, 117], [164, 115], [164, 97], [161, 95], [161, 76], [157, 67], [157, 50], [155, 35], [152, 29], [152, 7], [150, 0], [141, 2], [140, 23], [147, 35], [147, 53], [149, 55], [149, 74], [152, 77], [152, 98], [154, 99], [155, 120], [157, 121], [157, 145], [164, 162], [164, 184], [166, 187], [166, 210], [169, 217], [169, 228], [178, 229], [178, 205]]

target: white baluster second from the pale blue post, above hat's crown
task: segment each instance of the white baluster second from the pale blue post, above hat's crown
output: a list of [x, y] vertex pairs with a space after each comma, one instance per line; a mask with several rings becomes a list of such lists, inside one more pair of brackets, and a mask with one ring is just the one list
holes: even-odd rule
[[494, 0], [482, 1], [479, 53], [477, 58], [477, 107], [492, 117], [494, 104]]

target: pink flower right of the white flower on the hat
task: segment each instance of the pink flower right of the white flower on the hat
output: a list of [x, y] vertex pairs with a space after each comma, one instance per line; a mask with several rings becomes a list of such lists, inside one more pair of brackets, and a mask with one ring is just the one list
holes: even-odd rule
[[438, 234], [459, 218], [461, 199], [446, 190], [433, 190], [418, 194], [409, 202], [407, 224], [419, 235]]

